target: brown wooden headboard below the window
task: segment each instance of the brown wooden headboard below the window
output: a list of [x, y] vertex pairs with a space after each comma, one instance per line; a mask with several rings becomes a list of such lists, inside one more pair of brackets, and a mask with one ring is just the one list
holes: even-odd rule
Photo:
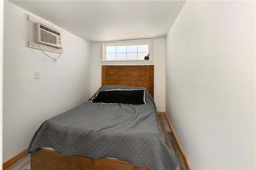
[[102, 65], [102, 86], [144, 87], [154, 99], [154, 65]]

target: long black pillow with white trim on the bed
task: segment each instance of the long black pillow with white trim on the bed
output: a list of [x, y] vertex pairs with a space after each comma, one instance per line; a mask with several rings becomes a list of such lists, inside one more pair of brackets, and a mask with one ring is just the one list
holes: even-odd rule
[[105, 90], [98, 92], [95, 98], [92, 98], [92, 103], [103, 104], [146, 104], [145, 92], [143, 89], [132, 90]]

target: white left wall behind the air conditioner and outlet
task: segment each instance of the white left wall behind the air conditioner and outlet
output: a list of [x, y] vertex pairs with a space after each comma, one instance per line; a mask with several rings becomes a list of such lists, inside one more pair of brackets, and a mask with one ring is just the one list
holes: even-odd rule
[[61, 29], [63, 54], [55, 63], [28, 47], [28, 14], [34, 16], [4, 1], [3, 162], [28, 147], [43, 121], [91, 95], [90, 43]]

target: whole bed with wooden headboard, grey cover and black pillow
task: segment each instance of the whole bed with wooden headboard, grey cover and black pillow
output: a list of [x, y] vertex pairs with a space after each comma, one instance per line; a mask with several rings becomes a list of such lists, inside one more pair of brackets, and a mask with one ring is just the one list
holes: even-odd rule
[[[139, 103], [119, 95], [135, 95]], [[27, 151], [31, 169], [176, 169], [153, 97], [154, 66], [102, 66], [102, 87], [88, 102], [38, 128]]]

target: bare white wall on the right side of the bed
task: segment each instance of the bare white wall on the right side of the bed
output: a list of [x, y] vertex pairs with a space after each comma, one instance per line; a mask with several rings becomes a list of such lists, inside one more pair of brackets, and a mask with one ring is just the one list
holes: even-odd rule
[[255, 1], [186, 1], [166, 37], [166, 113], [192, 169], [255, 169]]

